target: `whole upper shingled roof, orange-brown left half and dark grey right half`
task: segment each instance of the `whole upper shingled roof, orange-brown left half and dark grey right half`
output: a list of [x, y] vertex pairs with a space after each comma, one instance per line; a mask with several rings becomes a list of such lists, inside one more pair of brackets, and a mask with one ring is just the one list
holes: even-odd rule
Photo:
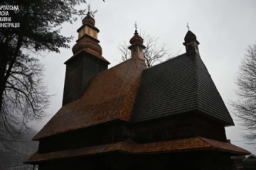
[[60, 108], [33, 140], [115, 119], [136, 123], [189, 111], [233, 125], [199, 55], [180, 55], [149, 69], [130, 59], [97, 74], [85, 94]]

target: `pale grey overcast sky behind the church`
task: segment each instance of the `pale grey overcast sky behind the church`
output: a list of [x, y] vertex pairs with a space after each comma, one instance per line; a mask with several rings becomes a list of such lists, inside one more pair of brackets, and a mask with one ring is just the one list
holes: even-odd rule
[[[89, 2], [89, 1], [87, 1]], [[86, 5], [78, 8], [87, 8]], [[215, 82], [220, 95], [232, 114], [229, 101], [237, 98], [235, 94], [235, 75], [248, 45], [256, 43], [256, 1], [238, 0], [102, 0], [91, 1], [95, 14], [96, 27], [100, 29], [98, 39], [103, 56], [111, 62], [110, 67], [118, 64], [122, 55], [117, 50], [119, 43], [129, 41], [134, 33], [134, 23], [138, 30], [146, 31], [159, 37], [170, 52], [186, 52], [183, 38], [186, 35], [186, 23], [196, 34], [200, 42], [199, 50], [208, 72]], [[63, 25], [63, 35], [73, 35], [70, 47], [78, 38], [76, 30], [82, 26], [81, 20]], [[41, 61], [45, 65], [45, 83], [48, 85], [51, 98], [48, 118], [37, 123], [36, 129], [41, 130], [48, 120], [61, 107], [65, 64], [73, 55], [72, 50], [61, 49], [60, 54], [45, 53]], [[253, 145], [241, 137], [242, 128], [233, 115], [235, 127], [226, 129], [228, 139], [256, 154]]]

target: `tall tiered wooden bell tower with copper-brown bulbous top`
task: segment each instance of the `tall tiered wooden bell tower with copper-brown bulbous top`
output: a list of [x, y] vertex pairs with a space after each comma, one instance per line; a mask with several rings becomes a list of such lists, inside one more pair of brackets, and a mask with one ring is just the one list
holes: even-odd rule
[[73, 46], [73, 56], [65, 62], [65, 84], [63, 106], [79, 99], [96, 74], [107, 69], [108, 62], [102, 57], [102, 47], [97, 40], [100, 30], [95, 27], [95, 19], [90, 12], [82, 20], [77, 30], [78, 40]]

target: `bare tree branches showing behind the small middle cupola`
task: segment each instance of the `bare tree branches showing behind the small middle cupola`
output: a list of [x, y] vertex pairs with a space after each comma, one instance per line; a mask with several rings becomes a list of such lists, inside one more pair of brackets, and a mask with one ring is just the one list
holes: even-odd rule
[[[147, 67], [152, 67], [154, 64], [161, 62], [162, 60], [168, 60], [172, 57], [169, 50], [166, 50], [166, 45], [163, 43], [159, 45], [159, 38], [143, 32], [140, 35], [144, 39], [144, 60]], [[129, 43], [123, 42], [119, 44], [118, 50], [122, 54], [122, 61], [128, 60], [131, 57], [131, 52], [128, 50]]]

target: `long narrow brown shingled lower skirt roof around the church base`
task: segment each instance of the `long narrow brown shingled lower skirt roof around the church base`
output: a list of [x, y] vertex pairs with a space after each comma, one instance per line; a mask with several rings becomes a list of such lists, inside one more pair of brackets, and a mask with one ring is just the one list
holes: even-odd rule
[[62, 159], [67, 157], [88, 156], [93, 154], [103, 154], [107, 152], [125, 152], [127, 154], [158, 154], [169, 152], [189, 152], [200, 150], [217, 150], [230, 154], [250, 154], [245, 149], [232, 145], [228, 142], [209, 140], [203, 137], [192, 137], [183, 140], [170, 140], [164, 142], [153, 142], [147, 144], [137, 144], [133, 141], [110, 143], [94, 147], [84, 147], [80, 149], [65, 150], [60, 152], [50, 152], [47, 154], [35, 153], [26, 163], [38, 163], [52, 159]]

